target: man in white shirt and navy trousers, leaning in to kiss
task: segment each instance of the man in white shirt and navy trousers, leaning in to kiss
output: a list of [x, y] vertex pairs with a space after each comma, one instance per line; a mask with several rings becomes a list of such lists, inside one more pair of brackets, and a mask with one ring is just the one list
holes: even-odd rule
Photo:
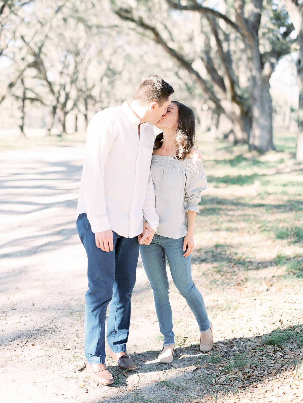
[[87, 369], [101, 384], [113, 382], [105, 366], [108, 304], [108, 354], [120, 368], [136, 368], [126, 342], [139, 254], [137, 236], [142, 234], [140, 243], [150, 243], [159, 223], [150, 179], [155, 136], [146, 122], [155, 125], [165, 115], [172, 93], [173, 87], [160, 77], [143, 77], [130, 104], [98, 112], [87, 128], [77, 229], [88, 259]]

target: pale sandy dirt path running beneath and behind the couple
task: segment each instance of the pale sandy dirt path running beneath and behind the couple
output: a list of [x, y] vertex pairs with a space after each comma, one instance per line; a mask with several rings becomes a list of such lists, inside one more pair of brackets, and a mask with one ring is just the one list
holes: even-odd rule
[[[224, 380], [211, 379], [204, 371], [205, 355], [196, 344], [194, 318], [174, 287], [171, 302], [181, 323], [179, 342], [182, 343], [183, 331], [184, 339], [192, 340], [192, 344], [177, 349], [173, 365], [157, 362], [161, 340], [150, 288], [140, 263], [128, 343], [129, 353], [139, 364], [138, 370], [123, 373], [109, 359], [115, 383], [106, 387], [97, 386], [83, 368], [86, 256], [75, 227], [83, 155], [83, 144], [0, 152], [1, 400], [5, 403], [214, 401], [204, 380], [207, 378], [219, 388]], [[198, 280], [208, 306], [214, 291], [204, 289]], [[241, 290], [235, 291], [234, 298], [243, 298]], [[289, 306], [295, 306], [295, 302]], [[245, 309], [250, 309], [248, 303]], [[301, 318], [299, 312], [298, 321]], [[221, 320], [222, 332], [215, 332], [216, 342], [237, 332], [237, 328], [232, 330], [234, 323], [224, 316]], [[240, 342], [249, 345], [254, 340]], [[236, 348], [232, 341], [229, 344], [217, 343], [214, 351], [218, 357], [227, 349]], [[214, 361], [210, 365], [217, 364]], [[292, 373], [294, 366], [285, 368], [284, 374], [276, 378], [273, 371], [266, 382], [254, 382], [245, 389], [246, 393], [241, 389], [245, 385], [239, 386], [239, 398], [220, 401], [303, 401], [302, 384]], [[285, 390], [280, 388], [282, 378], [288, 380]], [[228, 395], [228, 388], [222, 387], [221, 391], [222, 396]]]

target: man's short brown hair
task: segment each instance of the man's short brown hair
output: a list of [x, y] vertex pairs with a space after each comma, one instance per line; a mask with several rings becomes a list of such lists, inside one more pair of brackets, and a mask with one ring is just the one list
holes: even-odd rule
[[134, 100], [140, 105], [148, 105], [150, 102], [158, 102], [163, 105], [173, 93], [173, 87], [157, 75], [145, 76], [137, 85]]

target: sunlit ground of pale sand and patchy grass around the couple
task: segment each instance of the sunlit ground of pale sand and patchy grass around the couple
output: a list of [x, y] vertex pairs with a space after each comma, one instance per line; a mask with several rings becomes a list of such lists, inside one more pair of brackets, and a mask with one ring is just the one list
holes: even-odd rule
[[[163, 338], [139, 260], [128, 340], [138, 368], [123, 372], [108, 358], [115, 383], [97, 386], [85, 369], [87, 258], [75, 222], [83, 148], [52, 147], [33, 160], [32, 150], [26, 158], [23, 152], [21, 168], [30, 177], [21, 181], [19, 166], [2, 182], [4, 393], [14, 382], [12, 399], [23, 401], [43, 394], [87, 403], [166, 403], [167, 396], [177, 403], [244, 403], [266, 393], [282, 398], [285, 387], [296, 401], [296, 364], [303, 360], [301, 173], [266, 175], [264, 156], [254, 157], [256, 166], [262, 158], [262, 175], [247, 172], [241, 158], [241, 175], [231, 171], [236, 161], [220, 166], [216, 159], [212, 166], [206, 159], [209, 187], [199, 205], [192, 276], [213, 323], [214, 348], [199, 350], [196, 319], [168, 272], [176, 350], [172, 364], [158, 362]], [[277, 340], [282, 344], [271, 344]]]

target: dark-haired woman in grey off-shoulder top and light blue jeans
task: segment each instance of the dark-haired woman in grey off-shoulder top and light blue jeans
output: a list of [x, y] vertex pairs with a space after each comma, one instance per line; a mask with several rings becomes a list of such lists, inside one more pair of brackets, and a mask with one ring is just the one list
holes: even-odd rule
[[[175, 341], [166, 258], [179, 293], [194, 313], [200, 329], [200, 350], [210, 351], [214, 341], [203, 297], [191, 274], [194, 224], [201, 191], [206, 189], [201, 152], [194, 147], [195, 117], [192, 109], [172, 101], [156, 125], [157, 135], [151, 162], [159, 227], [150, 245], [140, 245], [143, 266], [152, 287], [155, 309], [163, 334], [159, 360], [173, 361]], [[139, 235], [139, 242], [141, 236]]]

